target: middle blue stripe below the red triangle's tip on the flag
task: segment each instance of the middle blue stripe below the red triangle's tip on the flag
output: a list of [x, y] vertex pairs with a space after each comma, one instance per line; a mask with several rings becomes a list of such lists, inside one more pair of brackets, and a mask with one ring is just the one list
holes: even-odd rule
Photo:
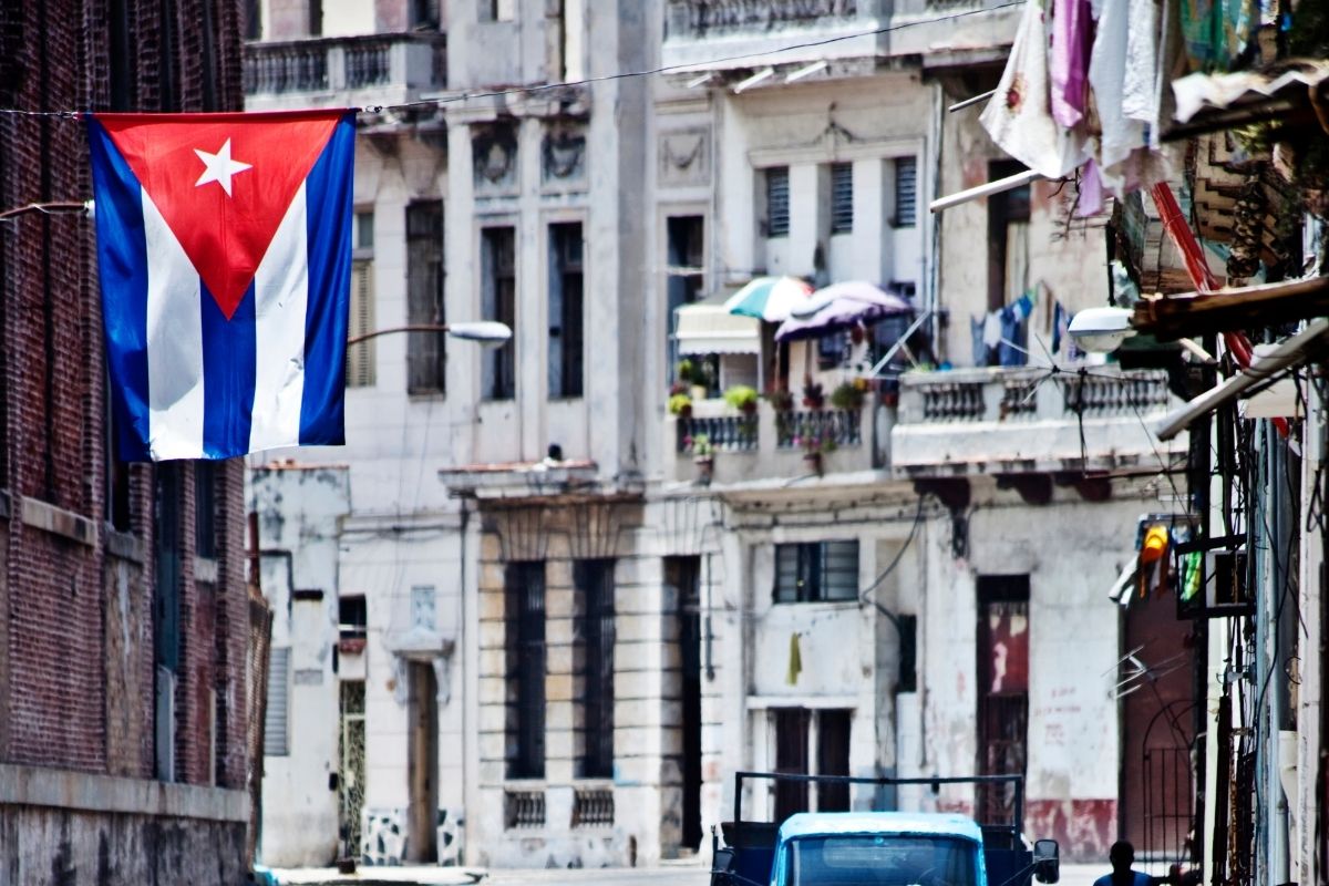
[[254, 283], [227, 320], [217, 299], [199, 282], [203, 299], [203, 454], [231, 458], [249, 452], [258, 344], [254, 327]]

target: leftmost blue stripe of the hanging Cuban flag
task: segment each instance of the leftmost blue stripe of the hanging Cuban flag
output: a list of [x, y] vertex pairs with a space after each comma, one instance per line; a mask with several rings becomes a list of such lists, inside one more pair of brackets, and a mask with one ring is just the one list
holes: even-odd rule
[[92, 116], [88, 141], [116, 442], [122, 460], [148, 461], [148, 242], [142, 186]]

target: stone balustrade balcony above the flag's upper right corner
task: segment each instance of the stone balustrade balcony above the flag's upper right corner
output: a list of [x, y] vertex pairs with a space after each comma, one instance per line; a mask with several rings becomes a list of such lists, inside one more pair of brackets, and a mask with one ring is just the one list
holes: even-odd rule
[[245, 106], [397, 105], [448, 84], [441, 33], [311, 37], [245, 45]]

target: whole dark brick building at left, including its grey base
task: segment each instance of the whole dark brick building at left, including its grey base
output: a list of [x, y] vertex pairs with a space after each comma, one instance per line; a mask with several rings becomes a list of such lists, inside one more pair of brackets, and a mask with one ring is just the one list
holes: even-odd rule
[[[239, 28], [217, 3], [7, 4], [0, 106], [238, 109]], [[90, 187], [73, 116], [0, 114], [0, 207]], [[0, 879], [238, 882], [243, 468], [117, 458], [88, 217], [5, 219], [0, 295]]]

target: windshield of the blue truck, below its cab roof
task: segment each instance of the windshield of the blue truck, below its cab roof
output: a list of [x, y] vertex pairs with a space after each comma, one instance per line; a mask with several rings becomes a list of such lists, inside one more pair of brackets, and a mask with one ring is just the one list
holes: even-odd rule
[[978, 847], [954, 837], [796, 837], [781, 886], [975, 886]]

